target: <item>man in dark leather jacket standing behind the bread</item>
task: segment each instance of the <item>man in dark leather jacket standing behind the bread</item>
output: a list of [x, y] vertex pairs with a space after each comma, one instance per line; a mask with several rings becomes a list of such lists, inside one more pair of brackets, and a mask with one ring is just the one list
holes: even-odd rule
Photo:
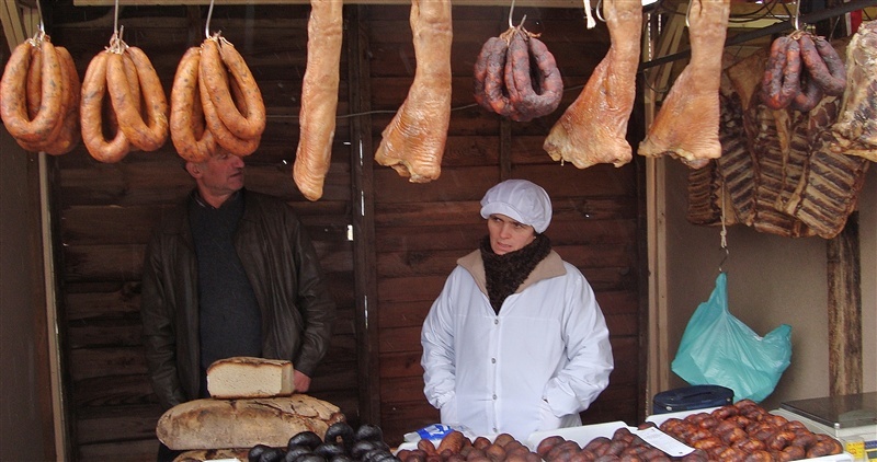
[[196, 187], [146, 251], [146, 358], [166, 409], [207, 397], [207, 367], [232, 356], [291, 360], [307, 392], [329, 347], [334, 302], [305, 228], [285, 203], [247, 190], [243, 168], [225, 152], [187, 162]]

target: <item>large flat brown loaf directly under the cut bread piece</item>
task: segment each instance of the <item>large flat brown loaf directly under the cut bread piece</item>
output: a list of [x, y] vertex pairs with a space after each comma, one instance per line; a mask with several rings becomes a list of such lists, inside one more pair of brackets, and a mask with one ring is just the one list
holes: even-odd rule
[[158, 420], [156, 436], [173, 450], [285, 447], [301, 431], [326, 436], [344, 420], [338, 406], [296, 393], [248, 400], [204, 399], [178, 404]]

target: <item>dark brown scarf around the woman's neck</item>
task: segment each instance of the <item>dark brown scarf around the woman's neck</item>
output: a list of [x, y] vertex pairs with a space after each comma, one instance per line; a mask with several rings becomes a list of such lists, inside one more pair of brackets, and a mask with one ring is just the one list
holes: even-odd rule
[[481, 241], [481, 259], [485, 262], [485, 277], [487, 294], [490, 305], [499, 314], [502, 302], [514, 293], [521, 284], [529, 276], [533, 268], [551, 252], [551, 241], [544, 234], [536, 234], [536, 239], [523, 249], [497, 255], [490, 249], [490, 236]]

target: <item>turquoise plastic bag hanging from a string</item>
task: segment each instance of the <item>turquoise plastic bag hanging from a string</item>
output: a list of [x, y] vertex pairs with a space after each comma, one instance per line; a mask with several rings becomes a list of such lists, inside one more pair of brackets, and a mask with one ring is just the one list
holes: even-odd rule
[[682, 334], [671, 368], [691, 385], [721, 385], [734, 401], [756, 403], [773, 393], [791, 359], [791, 326], [781, 324], [760, 337], [728, 311], [728, 281], [716, 278]]

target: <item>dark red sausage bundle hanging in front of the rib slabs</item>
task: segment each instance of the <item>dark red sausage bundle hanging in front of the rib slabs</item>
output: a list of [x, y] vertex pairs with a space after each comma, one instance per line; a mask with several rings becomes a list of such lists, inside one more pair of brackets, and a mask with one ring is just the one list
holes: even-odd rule
[[764, 70], [761, 99], [772, 109], [809, 112], [846, 88], [843, 60], [824, 37], [796, 31], [776, 38]]

